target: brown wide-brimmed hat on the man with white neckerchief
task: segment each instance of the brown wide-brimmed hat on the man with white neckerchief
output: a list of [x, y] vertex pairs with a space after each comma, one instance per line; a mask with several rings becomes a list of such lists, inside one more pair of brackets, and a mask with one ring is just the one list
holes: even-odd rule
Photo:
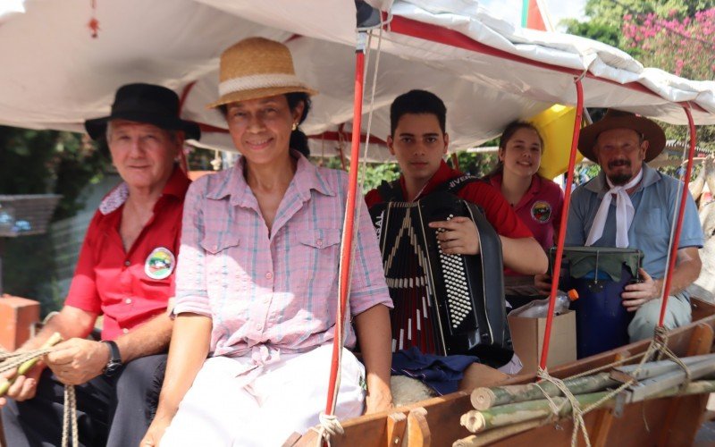
[[578, 150], [589, 160], [596, 161], [597, 157], [593, 152], [596, 139], [601, 132], [613, 129], [631, 129], [643, 135], [643, 139], [648, 141], [648, 150], [645, 152], [646, 163], [659, 156], [665, 148], [665, 132], [658, 124], [630, 112], [609, 109], [601, 121], [593, 122], [581, 130], [578, 137]]

